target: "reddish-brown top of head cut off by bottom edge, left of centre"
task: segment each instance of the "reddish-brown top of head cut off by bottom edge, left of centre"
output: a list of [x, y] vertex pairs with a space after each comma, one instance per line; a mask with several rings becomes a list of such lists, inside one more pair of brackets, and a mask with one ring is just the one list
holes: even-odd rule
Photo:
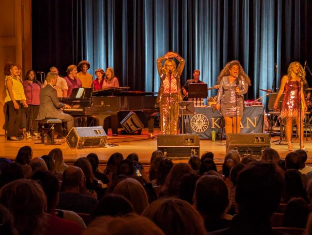
[[130, 214], [124, 217], [99, 216], [83, 235], [164, 235], [151, 220]]

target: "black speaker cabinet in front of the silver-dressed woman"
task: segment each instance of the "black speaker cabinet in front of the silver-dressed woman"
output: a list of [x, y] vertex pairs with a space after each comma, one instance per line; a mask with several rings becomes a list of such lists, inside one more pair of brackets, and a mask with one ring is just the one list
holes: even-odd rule
[[226, 152], [234, 149], [238, 151], [240, 156], [259, 157], [265, 148], [270, 147], [270, 135], [265, 133], [231, 133], [227, 135], [226, 139]]

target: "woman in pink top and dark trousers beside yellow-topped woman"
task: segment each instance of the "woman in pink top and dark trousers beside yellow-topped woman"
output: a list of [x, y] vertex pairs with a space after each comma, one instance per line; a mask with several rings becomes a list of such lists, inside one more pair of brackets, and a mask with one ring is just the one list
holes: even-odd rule
[[37, 81], [34, 70], [28, 70], [23, 81], [24, 92], [26, 96], [26, 103], [28, 107], [25, 108], [26, 113], [26, 131], [38, 131], [38, 122], [34, 121], [38, 116], [39, 111], [39, 94], [42, 89], [42, 84]]

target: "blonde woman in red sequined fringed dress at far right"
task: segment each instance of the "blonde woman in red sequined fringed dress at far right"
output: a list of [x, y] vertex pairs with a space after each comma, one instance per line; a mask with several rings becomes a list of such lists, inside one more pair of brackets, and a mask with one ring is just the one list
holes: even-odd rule
[[[292, 120], [296, 120], [297, 129], [300, 129], [300, 92], [302, 97], [303, 110], [301, 112], [301, 118], [304, 117], [304, 112], [306, 112], [306, 100], [303, 93], [303, 86], [301, 86], [300, 77], [302, 77], [304, 83], [306, 81], [306, 72], [304, 71], [302, 65], [298, 61], [290, 63], [287, 70], [287, 75], [282, 78], [281, 86], [278, 91], [277, 97], [275, 99], [273, 109], [277, 109], [277, 104], [279, 98], [284, 93], [283, 105], [280, 117], [285, 118], [285, 134], [286, 140], [288, 142], [288, 150], [293, 151], [292, 147]], [[303, 121], [301, 121], [301, 135], [300, 138], [303, 139]], [[301, 141], [301, 149], [304, 150], [303, 142]]]

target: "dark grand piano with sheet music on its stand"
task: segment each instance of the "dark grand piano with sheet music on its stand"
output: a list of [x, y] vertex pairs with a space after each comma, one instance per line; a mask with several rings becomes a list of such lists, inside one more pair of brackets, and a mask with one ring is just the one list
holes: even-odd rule
[[[91, 96], [91, 88], [76, 89], [73, 89], [70, 98], [59, 98], [60, 102], [72, 107], [72, 109], [65, 109], [64, 113], [73, 117], [94, 117], [97, 126], [104, 126], [105, 119], [118, 112], [141, 111], [148, 117], [149, 133], [153, 134], [154, 116], [152, 114], [159, 111], [156, 103], [157, 96], [153, 92], [124, 91], [121, 88], [111, 88], [91, 92]], [[81, 89], [85, 92], [81, 92]], [[79, 96], [80, 94], [83, 96]]]

